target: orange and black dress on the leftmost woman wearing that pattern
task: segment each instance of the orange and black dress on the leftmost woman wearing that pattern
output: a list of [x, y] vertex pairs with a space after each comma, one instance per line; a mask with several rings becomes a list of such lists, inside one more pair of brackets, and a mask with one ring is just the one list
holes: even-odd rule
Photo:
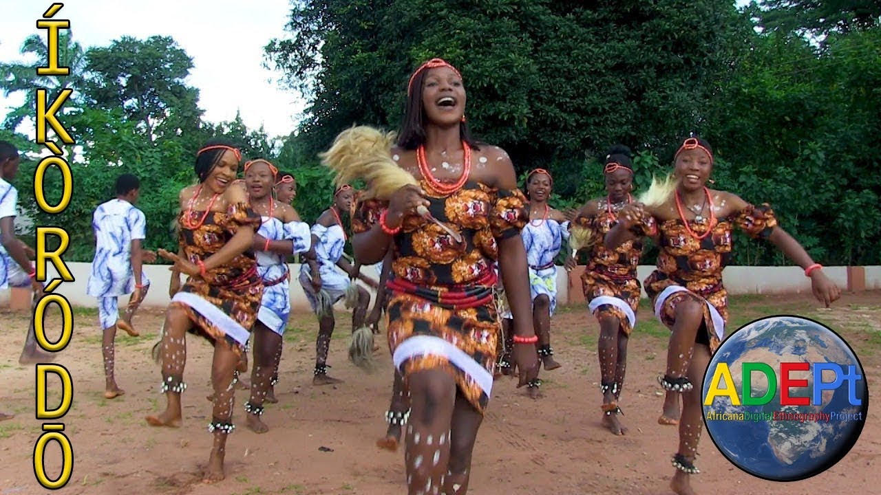
[[[240, 228], [260, 227], [261, 218], [246, 203], [232, 204], [226, 212], [211, 211], [198, 225], [204, 211], [193, 211], [178, 218], [178, 241], [190, 262], [205, 260], [233, 239]], [[189, 277], [181, 291], [174, 294], [172, 305], [182, 307], [194, 326], [190, 330], [207, 337], [212, 344], [225, 343], [237, 354], [248, 342], [251, 327], [263, 299], [263, 279], [257, 273], [255, 255], [249, 250], [214, 270], [208, 279]]]

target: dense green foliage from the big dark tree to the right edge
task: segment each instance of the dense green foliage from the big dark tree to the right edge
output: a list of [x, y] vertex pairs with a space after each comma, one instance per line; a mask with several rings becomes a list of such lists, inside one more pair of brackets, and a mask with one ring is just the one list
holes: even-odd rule
[[[551, 170], [560, 209], [603, 194], [599, 157], [611, 144], [637, 151], [637, 188], [646, 188], [697, 132], [714, 144], [716, 188], [771, 203], [818, 260], [877, 263], [878, 29], [830, 28], [822, 50], [789, 28], [753, 30], [759, 13], [783, 18], [808, 4], [826, 20], [830, 9], [853, 18], [860, 8], [302, 0], [290, 37], [266, 53], [310, 101], [297, 137], [307, 156], [355, 122], [395, 128], [411, 70], [441, 56], [463, 72], [472, 129], [504, 147], [519, 174]], [[816, 30], [799, 19], [803, 33]], [[787, 262], [736, 235], [736, 263]], [[644, 262], [654, 262], [651, 250]]]

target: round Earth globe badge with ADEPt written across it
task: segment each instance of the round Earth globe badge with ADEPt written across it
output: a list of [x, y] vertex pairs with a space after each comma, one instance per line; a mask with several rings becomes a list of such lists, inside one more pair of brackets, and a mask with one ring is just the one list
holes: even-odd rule
[[703, 383], [707, 432], [731, 463], [755, 477], [798, 481], [854, 447], [869, 410], [856, 354], [832, 329], [771, 316], [732, 333]]

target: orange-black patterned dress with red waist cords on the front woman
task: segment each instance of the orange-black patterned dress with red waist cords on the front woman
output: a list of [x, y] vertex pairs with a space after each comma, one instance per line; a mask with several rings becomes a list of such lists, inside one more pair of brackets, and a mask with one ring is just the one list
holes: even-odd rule
[[[448, 371], [483, 413], [501, 333], [494, 299], [496, 240], [520, 235], [529, 221], [526, 198], [519, 189], [476, 181], [449, 196], [426, 198], [433, 217], [463, 242], [425, 218], [403, 219], [387, 283], [389, 351], [404, 379], [423, 370]], [[386, 206], [375, 200], [359, 203], [353, 232], [371, 229]]]

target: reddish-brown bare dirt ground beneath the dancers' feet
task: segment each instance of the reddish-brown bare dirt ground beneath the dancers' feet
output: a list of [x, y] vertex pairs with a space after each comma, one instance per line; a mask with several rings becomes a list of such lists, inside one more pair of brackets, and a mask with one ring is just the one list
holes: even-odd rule
[[[545, 397], [525, 396], [513, 381], [496, 382], [472, 466], [473, 495], [531, 493], [667, 494], [670, 455], [677, 429], [656, 423], [663, 396], [655, 376], [663, 371], [669, 335], [651, 316], [647, 301], [640, 324], [630, 339], [628, 373], [621, 407], [630, 428], [614, 437], [600, 425], [596, 357], [598, 327], [583, 307], [561, 307], [552, 321], [559, 370], [542, 371]], [[47, 328], [60, 328], [60, 318]], [[810, 294], [732, 298], [731, 329], [771, 314], [799, 314], [823, 321], [855, 348], [873, 388], [881, 367], [881, 292], [845, 294], [831, 310], [819, 308]], [[34, 368], [19, 366], [26, 314], [0, 309], [0, 410], [17, 416], [0, 423], [0, 495], [43, 493], [33, 475], [33, 445], [41, 432], [34, 419]], [[75, 310], [70, 346], [56, 362], [66, 366], [74, 383], [70, 412], [63, 418], [75, 455], [73, 476], [60, 493], [389, 495], [403, 493], [403, 449], [381, 451], [375, 441], [385, 432], [383, 414], [389, 405], [392, 366], [389, 352], [377, 353], [380, 369], [367, 374], [347, 360], [348, 314], [339, 314], [331, 344], [336, 387], [311, 385], [316, 323], [310, 314], [296, 314], [285, 335], [278, 404], [268, 404], [264, 421], [270, 432], [258, 435], [244, 425], [242, 404], [248, 391], [236, 394], [233, 422], [238, 428], [227, 442], [226, 480], [200, 483], [211, 449], [207, 424], [211, 345], [188, 336], [184, 394], [184, 426], [159, 429], [144, 417], [161, 410], [159, 366], [150, 349], [156, 341], [162, 312], [142, 310], [135, 325], [143, 336], [117, 339], [117, 381], [126, 395], [103, 398], [104, 377], [100, 332], [94, 311]], [[50, 337], [51, 337], [50, 333]], [[384, 339], [383, 339], [384, 343]], [[252, 358], [253, 360], [253, 358]], [[56, 390], [57, 383], [50, 385]], [[57, 403], [57, 392], [50, 404]], [[56, 397], [52, 399], [51, 397]], [[321, 449], [328, 447], [330, 450]], [[881, 423], [871, 414], [860, 440], [832, 469], [809, 480], [780, 484], [747, 475], [730, 464], [705, 433], [693, 477], [699, 493], [737, 494], [810, 492], [867, 493], [871, 473], [881, 469]], [[46, 467], [59, 472], [59, 449], [52, 444]], [[876, 482], [877, 483], [877, 482]]]

